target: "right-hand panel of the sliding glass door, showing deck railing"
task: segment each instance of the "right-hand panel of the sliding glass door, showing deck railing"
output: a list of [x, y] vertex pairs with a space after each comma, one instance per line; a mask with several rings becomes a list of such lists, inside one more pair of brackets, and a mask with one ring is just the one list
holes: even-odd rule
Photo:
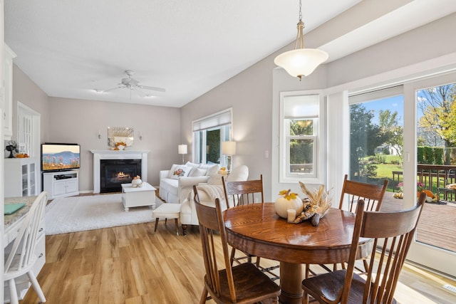
[[408, 259], [456, 276], [456, 74], [408, 83], [405, 106], [404, 196], [427, 192]]

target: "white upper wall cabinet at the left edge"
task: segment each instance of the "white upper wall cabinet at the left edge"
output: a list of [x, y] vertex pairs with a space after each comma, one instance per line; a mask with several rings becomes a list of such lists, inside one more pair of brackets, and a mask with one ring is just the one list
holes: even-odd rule
[[4, 43], [4, 139], [11, 140], [13, 135], [13, 58], [16, 54]]

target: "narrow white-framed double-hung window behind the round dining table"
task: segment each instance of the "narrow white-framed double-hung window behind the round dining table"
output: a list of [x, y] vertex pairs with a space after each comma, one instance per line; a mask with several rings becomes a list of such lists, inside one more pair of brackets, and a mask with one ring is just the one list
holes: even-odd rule
[[280, 182], [321, 182], [322, 108], [320, 94], [281, 93]]

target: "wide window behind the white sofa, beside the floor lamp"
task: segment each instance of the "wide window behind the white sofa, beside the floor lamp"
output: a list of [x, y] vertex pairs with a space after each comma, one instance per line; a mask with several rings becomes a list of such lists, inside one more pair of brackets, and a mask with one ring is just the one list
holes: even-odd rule
[[222, 142], [231, 139], [232, 109], [193, 122], [193, 162], [227, 164]]

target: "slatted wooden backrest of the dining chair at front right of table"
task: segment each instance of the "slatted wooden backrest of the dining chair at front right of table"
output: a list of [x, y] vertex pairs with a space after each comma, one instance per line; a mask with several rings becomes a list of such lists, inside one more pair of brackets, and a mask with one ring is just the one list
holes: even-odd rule
[[[415, 237], [426, 196], [421, 194], [411, 209], [395, 212], [365, 211], [364, 201], [358, 201], [356, 224], [351, 244], [341, 303], [348, 302], [360, 238], [373, 239], [368, 256], [369, 267], [363, 286], [363, 303], [391, 303], [405, 262], [410, 243]], [[375, 259], [376, 258], [376, 259]]]

